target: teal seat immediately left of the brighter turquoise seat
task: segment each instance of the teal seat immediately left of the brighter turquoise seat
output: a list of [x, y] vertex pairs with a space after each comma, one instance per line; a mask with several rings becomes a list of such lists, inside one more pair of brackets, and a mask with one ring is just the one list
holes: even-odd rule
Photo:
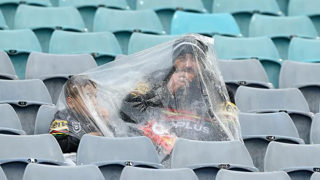
[[128, 41], [132, 32], [165, 33], [159, 17], [153, 10], [124, 11], [101, 7], [96, 11], [94, 31], [113, 32], [124, 54], [128, 53]]

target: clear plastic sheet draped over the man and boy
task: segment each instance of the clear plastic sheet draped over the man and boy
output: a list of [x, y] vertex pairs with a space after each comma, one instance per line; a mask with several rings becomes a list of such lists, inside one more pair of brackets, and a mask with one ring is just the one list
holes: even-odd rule
[[177, 138], [242, 141], [217, 60], [214, 39], [181, 36], [73, 76], [57, 114], [69, 136], [147, 136], [161, 158]]

